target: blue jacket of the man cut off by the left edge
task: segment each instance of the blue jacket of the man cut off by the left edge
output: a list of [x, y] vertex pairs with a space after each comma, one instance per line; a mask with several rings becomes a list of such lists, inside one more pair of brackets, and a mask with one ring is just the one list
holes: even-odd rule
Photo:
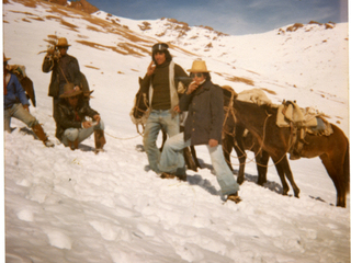
[[11, 78], [7, 85], [8, 94], [3, 95], [3, 110], [13, 106], [15, 103], [22, 103], [22, 105], [30, 105], [26, 99], [25, 92], [20, 83], [20, 80], [15, 75], [10, 73]]

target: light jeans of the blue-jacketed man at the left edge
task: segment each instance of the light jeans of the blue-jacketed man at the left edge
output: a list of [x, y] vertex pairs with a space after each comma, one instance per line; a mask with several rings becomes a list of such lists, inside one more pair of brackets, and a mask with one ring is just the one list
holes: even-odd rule
[[21, 103], [13, 104], [12, 107], [7, 108], [3, 111], [3, 129], [11, 133], [11, 117], [15, 117], [23, 123], [26, 124], [30, 128], [32, 128], [35, 124], [38, 122], [36, 118], [29, 113], [26, 110], [24, 110], [23, 105]]

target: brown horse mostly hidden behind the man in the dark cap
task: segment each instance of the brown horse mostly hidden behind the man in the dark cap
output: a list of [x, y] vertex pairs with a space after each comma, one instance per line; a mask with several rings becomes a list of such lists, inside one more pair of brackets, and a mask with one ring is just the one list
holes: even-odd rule
[[[131, 112], [131, 118], [132, 118], [132, 122], [136, 125], [137, 132], [140, 135], [144, 134], [145, 124], [148, 116], [148, 108], [149, 108], [149, 105], [148, 105], [147, 95], [141, 92], [141, 78], [139, 78], [139, 90], [135, 95], [134, 106]], [[141, 126], [143, 132], [139, 130], [139, 126]], [[180, 127], [181, 132], [182, 132], [182, 128], [183, 127], [181, 126]], [[161, 129], [161, 133], [162, 133], [162, 145], [161, 145], [160, 151], [162, 151], [163, 145], [167, 140], [166, 130]], [[184, 155], [184, 160], [188, 169], [191, 169], [196, 172], [197, 168], [200, 168], [200, 163], [196, 157], [195, 148], [193, 146], [191, 146], [190, 149], [189, 147], [184, 148], [183, 155]]]

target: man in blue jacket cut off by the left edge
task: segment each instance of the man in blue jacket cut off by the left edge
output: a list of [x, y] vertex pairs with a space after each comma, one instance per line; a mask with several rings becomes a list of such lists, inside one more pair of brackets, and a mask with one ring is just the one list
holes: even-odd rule
[[8, 70], [8, 60], [3, 55], [3, 128], [11, 133], [11, 118], [15, 117], [29, 127], [46, 147], [54, 147], [54, 144], [47, 138], [38, 121], [30, 113], [29, 100], [15, 75]]

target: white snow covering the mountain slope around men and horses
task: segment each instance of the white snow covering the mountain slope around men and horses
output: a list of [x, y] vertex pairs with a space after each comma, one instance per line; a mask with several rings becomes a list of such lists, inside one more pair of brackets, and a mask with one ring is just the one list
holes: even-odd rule
[[[118, 18], [134, 30], [128, 31], [101, 14], [104, 22], [59, 5], [24, 3], [3, 4], [4, 53], [10, 64], [26, 67], [37, 99], [31, 112], [56, 146], [46, 148], [15, 119], [16, 129], [4, 134], [7, 262], [350, 262], [350, 198], [347, 209], [335, 206], [336, 190], [318, 158], [290, 162], [301, 188], [295, 198], [292, 190], [281, 195], [271, 162], [268, 183], [257, 185], [249, 153], [242, 202], [225, 203], [205, 147], [196, 147], [202, 169], [189, 170], [188, 182], [161, 180], [147, 171], [146, 153], [138, 150], [143, 140], [129, 118], [151, 45], [172, 39], [171, 54], [184, 69], [202, 57], [214, 82], [237, 92], [264, 88], [275, 103], [290, 99], [315, 106], [348, 136], [347, 23], [212, 37], [214, 47], [206, 52], [212, 33], [205, 28], [192, 27], [184, 38], [172, 38], [174, 32], [157, 37], [160, 21], [148, 21], [151, 30], [143, 32], [143, 21]], [[93, 153], [93, 136], [76, 151], [55, 138], [50, 75], [42, 72], [38, 55], [55, 33], [68, 38], [68, 53], [94, 90], [91, 106], [105, 124], [105, 152]], [[111, 48], [126, 53], [121, 44], [133, 52]], [[231, 161], [238, 170], [234, 152]]]

